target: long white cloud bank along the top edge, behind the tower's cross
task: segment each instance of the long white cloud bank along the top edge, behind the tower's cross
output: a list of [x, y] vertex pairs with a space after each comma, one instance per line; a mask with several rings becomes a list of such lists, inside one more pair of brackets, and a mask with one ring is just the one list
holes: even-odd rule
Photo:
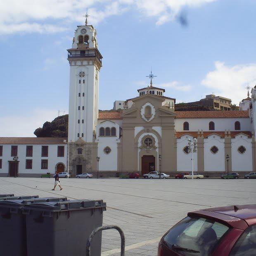
[[97, 24], [109, 16], [135, 9], [145, 17], [157, 17], [161, 25], [173, 20], [183, 7], [199, 7], [216, 0], [8, 0], [0, 1], [0, 34], [54, 33], [66, 24], [84, 22], [85, 8], [89, 22]]

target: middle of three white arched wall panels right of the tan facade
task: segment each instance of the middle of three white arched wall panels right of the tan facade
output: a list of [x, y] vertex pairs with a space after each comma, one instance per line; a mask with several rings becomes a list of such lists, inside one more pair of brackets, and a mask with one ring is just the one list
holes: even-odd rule
[[[204, 171], [225, 171], [224, 141], [214, 134], [204, 139]], [[218, 147], [218, 153], [213, 154], [210, 151], [213, 146]]]

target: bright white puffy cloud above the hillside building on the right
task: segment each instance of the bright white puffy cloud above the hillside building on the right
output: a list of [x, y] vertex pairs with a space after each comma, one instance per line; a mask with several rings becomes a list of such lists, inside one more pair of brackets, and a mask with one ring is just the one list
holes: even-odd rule
[[211, 88], [214, 94], [231, 98], [233, 104], [247, 97], [245, 87], [256, 83], [256, 64], [226, 66], [224, 62], [215, 62], [215, 70], [207, 73], [201, 84]]

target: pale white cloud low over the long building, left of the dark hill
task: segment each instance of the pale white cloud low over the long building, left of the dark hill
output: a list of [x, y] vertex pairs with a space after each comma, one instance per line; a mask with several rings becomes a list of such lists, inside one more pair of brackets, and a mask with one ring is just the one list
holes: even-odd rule
[[34, 131], [38, 127], [57, 116], [57, 111], [51, 109], [35, 109], [24, 114], [2, 116], [0, 134], [2, 137], [35, 137]]

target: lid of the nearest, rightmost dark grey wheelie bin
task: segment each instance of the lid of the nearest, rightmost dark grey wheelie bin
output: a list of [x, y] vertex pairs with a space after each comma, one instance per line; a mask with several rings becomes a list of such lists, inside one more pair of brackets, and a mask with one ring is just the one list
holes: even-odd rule
[[106, 203], [103, 200], [70, 200], [63, 202], [37, 202], [35, 204], [27, 204], [24, 210], [35, 211], [72, 211], [92, 208], [104, 208], [106, 210]]

